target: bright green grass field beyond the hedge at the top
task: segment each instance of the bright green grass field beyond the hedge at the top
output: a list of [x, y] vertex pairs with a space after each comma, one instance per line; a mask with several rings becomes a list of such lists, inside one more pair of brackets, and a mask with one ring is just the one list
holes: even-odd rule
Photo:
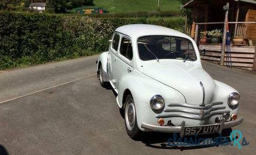
[[[158, 0], [94, 0], [94, 4], [93, 7], [105, 7], [109, 13], [152, 12], [158, 9]], [[179, 0], [160, 0], [160, 11], [177, 11], [180, 4]]]

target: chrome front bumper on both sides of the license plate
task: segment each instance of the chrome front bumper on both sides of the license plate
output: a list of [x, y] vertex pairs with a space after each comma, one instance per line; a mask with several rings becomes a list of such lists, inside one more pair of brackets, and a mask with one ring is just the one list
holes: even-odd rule
[[[237, 120], [234, 120], [234, 121], [227, 121], [227, 122], [222, 121], [220, 123], [219, 133], [221, 133], [222, 129], [227, 129], [227, 128], [231, 128], [231, 127], [240, 125], [240, 123], [242, 121], [243, 121], [243, 117], [239, 118]], [[180, 137], [183, 137], [183, 133], [184, 133], [184, 129], [185, 129], [185, 121], [182, 121], [180, 126], [153, 126], [153, 125], [148, 125], [148, 124], [142, 122], [141, 128], [145, 129], [146, 131], [180, 133]]]

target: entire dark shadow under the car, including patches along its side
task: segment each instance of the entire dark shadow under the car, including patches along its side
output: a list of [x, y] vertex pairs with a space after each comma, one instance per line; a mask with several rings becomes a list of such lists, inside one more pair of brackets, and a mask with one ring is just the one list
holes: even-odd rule
[[[111, 90], [115, 97], [117, 97], [116, 91], [111, 87], [110, 83], [105, 87], [107, 90]], [[124, 116], [124, 109], [119, 108], [120, 115], [123, 119], [125, 119]], [[163, 132], [142, 132], [140, 138], [134, 139], [135, 141], [141, 141], [145, 144], [147, 147], [156, 148], [156, 149], [178, 149], [178, 150], [192, 150], [192, 149], [202, 149], [202, 148], [209, 148], [209, 147], [219, 147], [220, 140], [222, 142], [231, 142], [229, 139], [230, 133], [232, 132], [232, 129], [224, 129], [221, 133], [221, 138], [218, 133], [212, 133], [209, 135], [197, 135], [197, 136], [184, 136], [180, 137], [179, 133], [176, 133], [176, 140], [175, 141], [169, 141], [170, 138], [174, 139], [173, 136], [175, 133], [163, 133]], [[199, 140], [201, 138], [201, 140]], [[226, 141], [223, 141], [223, 138], [226, 138]], [[237, 139], [238, 137], [235, 137]], [[191, 146], [179, 146], [177, 143], [179, 142], [187, 142], [190, 139], [197, 140], [197, 142], [190, 143]], [[212, 140], [212, 143], [210, 144], [202, 144], [203, 140]], [[219, 139], [219, 142], [218, 142]], [[217, 140], [217, 143], [214, 141]]]

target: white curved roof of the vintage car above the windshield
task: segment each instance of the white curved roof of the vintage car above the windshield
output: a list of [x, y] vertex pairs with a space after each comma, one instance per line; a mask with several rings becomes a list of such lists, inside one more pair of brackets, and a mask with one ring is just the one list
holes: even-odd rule
[[157, 26], [157, 25], [148, 25], [148, 24], [131, 24], [120, 26], [116, 29], [116, 32], [128, 35], [131, 38], [137, 39], [142, 36], [153, 36], [153, 35], [167, 35], [167, 36], [176, 36], [189, 38], [189, 36], [178, 32], [177, 30]]

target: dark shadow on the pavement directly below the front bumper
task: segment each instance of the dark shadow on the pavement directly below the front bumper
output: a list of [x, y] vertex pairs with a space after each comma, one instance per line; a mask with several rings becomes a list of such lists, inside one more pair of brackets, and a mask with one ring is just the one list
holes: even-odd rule
[[141, 141], [147, 147], [151, 148], [178, 149], [183, 151], [219, 147], [221, 145], [220, 143], [231, 142], [229, 138], [231, 132], [232, 129], [225, 129], [222, 131], [221, 137], [218, 133], [212, 133], [209, 135], [184, 136], [182, 138], [179, 133], [144, 132], [139, 139], [135, 140]]

